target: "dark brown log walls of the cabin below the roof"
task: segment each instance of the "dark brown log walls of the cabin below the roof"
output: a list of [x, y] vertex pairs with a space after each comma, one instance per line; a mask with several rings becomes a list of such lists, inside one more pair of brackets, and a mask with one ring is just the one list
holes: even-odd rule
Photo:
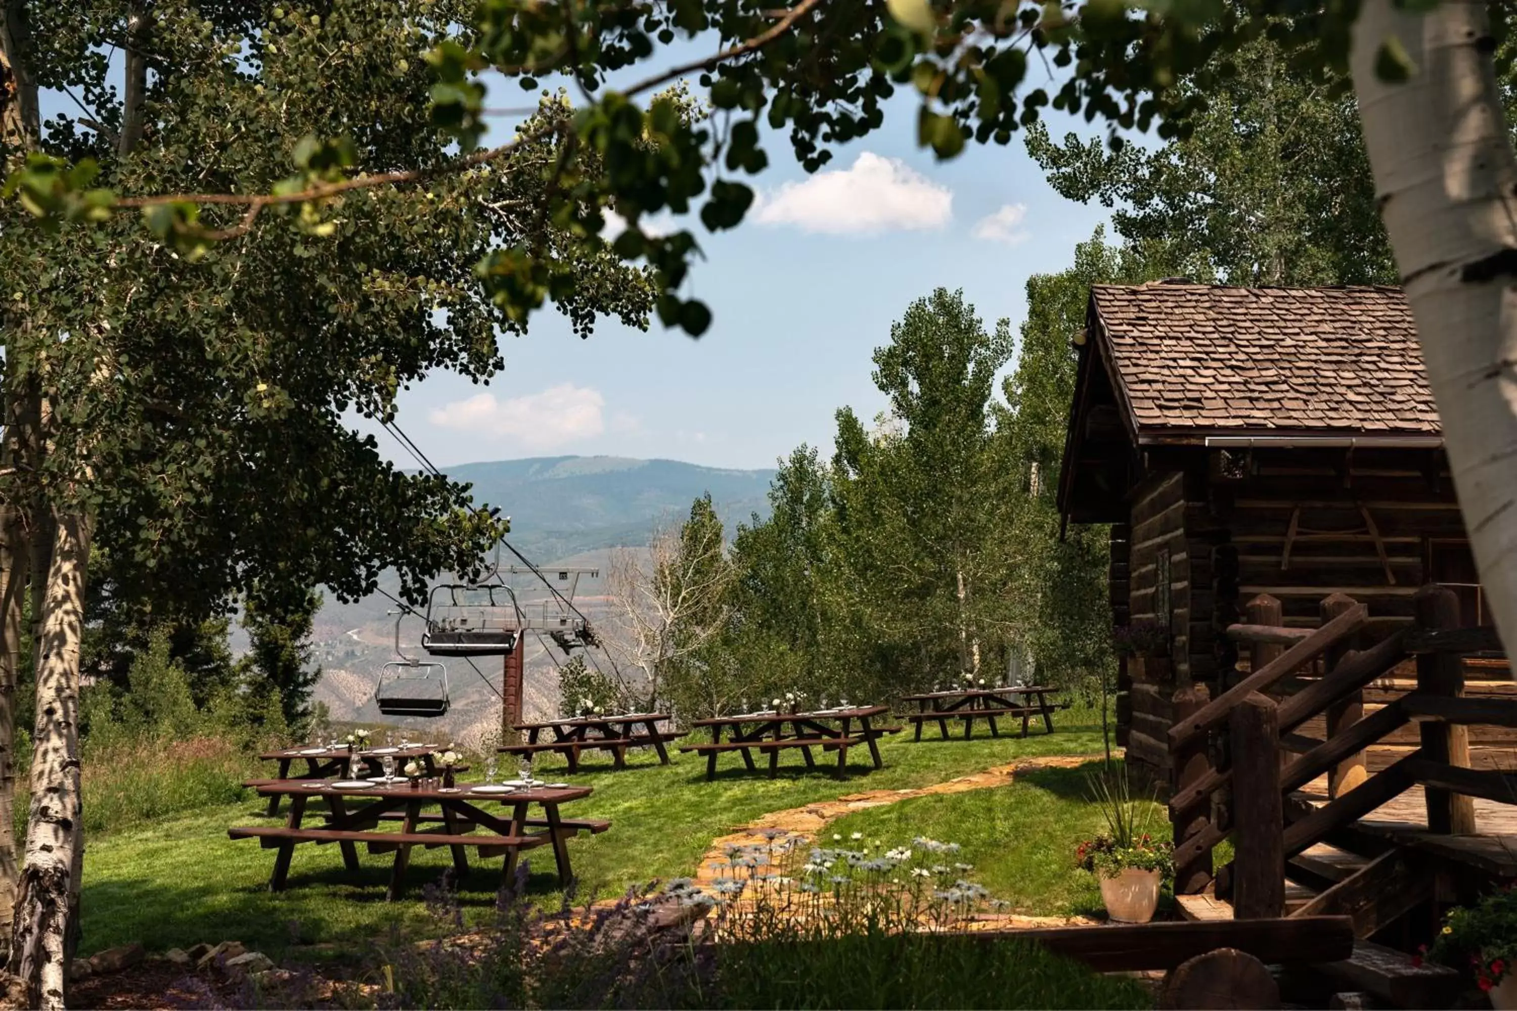
[[1323, 597], [1344, 593], [1368, 605], [1367, 638], [1380, 638], [1412, 620], [1438, 546], [1462, 550], [1467, 537], [1443, 455], [1414, 450], [1171, 450], [1130, 503], [1130, 526], [1112, 531], [1112, 609], [1118, 624], [1159, 617], [1167, 550], [1171, 647], [1167, 661], [1118, 670], [1118, 740], [1135, 776], [1161, 784], [1176, 697], [1192, 685], [1215, 694], [1235, 675], [1223, 629], [1247, 600], [1274, 596], [1286, 624], [1309, 628]]

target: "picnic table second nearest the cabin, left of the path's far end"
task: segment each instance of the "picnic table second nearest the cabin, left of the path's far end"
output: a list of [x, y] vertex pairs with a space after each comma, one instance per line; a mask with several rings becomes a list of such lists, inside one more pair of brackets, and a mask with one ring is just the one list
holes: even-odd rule
[[[869, 720], [889, 712], [889, 706], [848, 706], [819, 709], [816, 712], [742, 712], [692, 720], [690, 726], [711, 728], [710, 744], [681, 744], [681, 752], [705, 755], [705, 778], [716, 778], [716, 756], [722, 752], [737, 752], [749, 772], [755, 770], [752, 752], [769, 755], [769, 778], [780, 767], [780, 752], [796, 749], [806, 758], [807, 768], [816, 768], [813, 747], [837, 752], [837, 775], [848, 765], [848, 749], [860, 744], [869, 749], [875, 768], [883, 768], [880, 747], [875, 741], [886, 734], [897, 734], [898, 726], [871, 726]], [[857, 723], [857, 729], [854, 728]], [[786, 732], [789, 728], [789, 732]], [[728, 740], [722, 740], [722, 734]]]

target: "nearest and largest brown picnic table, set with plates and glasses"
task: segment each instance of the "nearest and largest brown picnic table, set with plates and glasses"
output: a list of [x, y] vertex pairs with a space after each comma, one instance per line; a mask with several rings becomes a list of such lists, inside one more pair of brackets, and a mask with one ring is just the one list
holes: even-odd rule
[[[234, 840], [256, 838], [264, 849], [279, 850], [275, 869], [269, 878], [270, 891], [284, 891], [290, 878], [290, 861], [294, 847], [302, 843], [329, 846], [335, 843], [343, 852], [343, 864], [349, 872], [360, 870], [358, 846], [370, 853], [394, 853], [390, 872], [390, 887], [385, 899], [400, 896], [405, 869], [410, 864], [411, 847], [449, 847], [454, 870], [469, 873], [464, 849], [473, 846], [481, 859], [505, 856], [502, 881], [510, 885], [516, 875], [517, 856], [523, 850], [552, 846], [558, 867], [558, 882], [567, 885], [569, 869], [567, 840], [579, 832], [604, 832], [610, 822], [563, 819], [558, 806], [590, 796], [590, 787], [532, 785], [532, 787], [482, 787], [463, 785], [455, 790], [411, 790], [405, 781], [366, 787], [338, 785], [328, 781], [300, 782], [279, 781], [258, 787], [262, 796], [290, 797], [290, 814], [284, 826], [250, 825], [228, 829]], [[326, 815], [317, 826], [305, 825], [309, 800], [325, 802]], [[349, 800], [358, 802], [349, 806]], [[498, 803], [510, 808], [510, 814], [490, 814], [481, 803]], [[528, 817], [529, 808], [542, 809], [540, 817]], [[381, 823], [399, 822], [399, 831], [379, 831]], [[429, 826], [429, 828], [423, 828]]]

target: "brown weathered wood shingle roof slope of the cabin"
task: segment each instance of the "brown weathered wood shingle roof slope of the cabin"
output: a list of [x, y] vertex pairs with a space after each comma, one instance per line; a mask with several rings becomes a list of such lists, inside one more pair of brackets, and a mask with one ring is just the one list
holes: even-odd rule
[[1399, 288], [1165, 280], [1091, 306], [1141, 432], [1441, 434]]

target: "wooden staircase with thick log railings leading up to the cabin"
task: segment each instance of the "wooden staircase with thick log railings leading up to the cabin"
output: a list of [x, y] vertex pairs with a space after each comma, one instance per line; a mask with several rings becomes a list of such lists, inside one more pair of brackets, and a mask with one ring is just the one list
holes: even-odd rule
[[[1517, 728], [1517, 696], [1464, 697], [1459, 655], [1499, 641], [1452, 628], [1450, 597], [1423, 588], [1417, 626], [1358, 650], [1367, 611], [1340, 594], [1318, 629], [1258, 620], [1268, 600], [1229, 629], [1253, 647], [1248, 673], [1217, 699], [1194, 699], [1170, 731], [1186, 920], [1347, 916], [1352, 958], [1314, 969], [1327, 985], [1390, 1006], [1456, 997], [1462, 976], [1417, 964], [1409, 938], [1431, 940], [1450, 900], [1517, 879], [1517, 776], [1471, 768], [1468, 749], [1471, 725], [1499, 728], [1496, 740]], [[1408, 667], [1409, 690], [1387, 691], [1390, 671]], [[1308, 726], [1314, 735], [1297, 732]], [[1394, 750], [1367, 762], [1387, 740]], [[1235, 858], [1214, 869], [1212, 849], [1229, 837]]]

